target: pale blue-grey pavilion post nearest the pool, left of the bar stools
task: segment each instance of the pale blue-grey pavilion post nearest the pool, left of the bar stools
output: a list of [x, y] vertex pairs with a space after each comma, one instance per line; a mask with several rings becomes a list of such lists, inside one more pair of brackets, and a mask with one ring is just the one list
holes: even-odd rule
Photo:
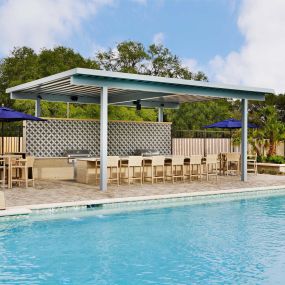
[[107, 190], [108, 88], [101, 87], [100, 97], [100, 190]]

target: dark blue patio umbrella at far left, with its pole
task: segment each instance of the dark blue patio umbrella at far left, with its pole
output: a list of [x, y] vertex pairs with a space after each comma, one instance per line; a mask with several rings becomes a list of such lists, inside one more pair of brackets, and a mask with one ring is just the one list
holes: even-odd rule
[[34, 117], [29, 114], [18, 112], [16, 110], [0, 107], [0, 122], [1, 122], [1, 136], [2, 136], [2, 154], [4, 153], [4, 123], [17, 121], [45, 121], [43, 119]]

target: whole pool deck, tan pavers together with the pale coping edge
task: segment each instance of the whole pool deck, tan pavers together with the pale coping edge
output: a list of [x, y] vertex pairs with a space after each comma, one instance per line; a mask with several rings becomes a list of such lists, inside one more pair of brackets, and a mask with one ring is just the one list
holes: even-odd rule
[[101, 192], [98, 186], [74, 181], [39, 180], [36, 181], [35, 188], [5, 189], [7, 209], [0, 211], [0, 216], [29, 214], [33, 209], [238, 193], [270, 188], [284, 189], [285, 175], [250, 174], [247, 182], [241, 182], [238, 176], [220, 176], [217, 182], [212, 178], [210, 181], [192, 181], [191, 183], [112, 185], [105, 192]]

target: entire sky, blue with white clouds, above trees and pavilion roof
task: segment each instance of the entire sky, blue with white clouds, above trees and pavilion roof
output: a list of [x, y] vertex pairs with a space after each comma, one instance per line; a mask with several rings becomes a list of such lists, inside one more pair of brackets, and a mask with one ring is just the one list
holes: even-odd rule
[[285, 0], [0, 0], [0, 56], [161, 43], [211, 82], [285, 93]]

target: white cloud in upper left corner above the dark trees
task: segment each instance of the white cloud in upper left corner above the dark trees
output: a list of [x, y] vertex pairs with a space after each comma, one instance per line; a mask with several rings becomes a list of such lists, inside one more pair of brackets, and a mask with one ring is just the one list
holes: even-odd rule
[[112, 0], [7, 0], [0, 4], [0, 53], [14, 46], [52, 47]]

